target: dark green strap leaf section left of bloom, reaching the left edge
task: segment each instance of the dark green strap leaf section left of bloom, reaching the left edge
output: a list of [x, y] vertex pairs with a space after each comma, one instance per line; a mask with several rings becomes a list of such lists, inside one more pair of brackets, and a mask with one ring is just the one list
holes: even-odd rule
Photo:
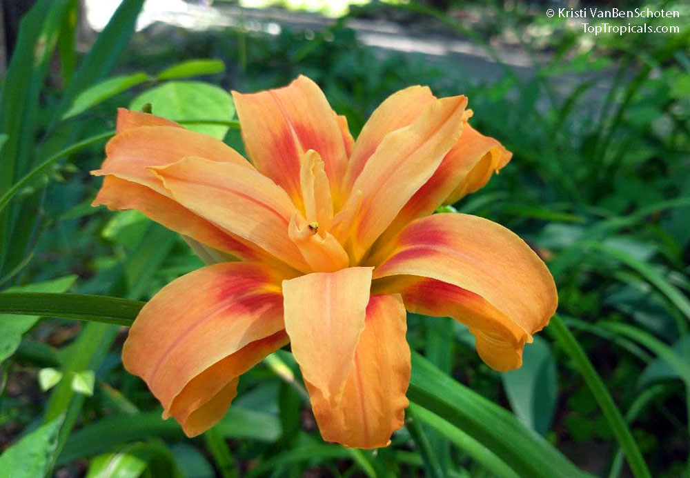
[[[0, 314], [46, 315], [130, 326], [144, 302], [83, 294], [0, 292]], [[0, 315], [0, 319], [11, 319]]]

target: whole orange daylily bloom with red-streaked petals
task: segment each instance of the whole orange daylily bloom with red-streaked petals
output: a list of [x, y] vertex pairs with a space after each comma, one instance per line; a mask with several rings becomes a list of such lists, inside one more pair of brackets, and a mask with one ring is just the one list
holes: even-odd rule
[[225, 414], [240, 375], [290, 343], [322, 436], [390, 443], [408, 406], [406, 310], [453, 317], [496, 370], [522, 364], [556, 308], [553, 279], [513, 232], [434, 214], [511, 159], [469, 125], [464, 96], [413, 86], [357, 141], [306, 77], [233, 92], [249, 160], [152, 114], [119, 110], [94, 205], [135, 209], [210, 265], [141, 310], [122, 352], [188, 436]]

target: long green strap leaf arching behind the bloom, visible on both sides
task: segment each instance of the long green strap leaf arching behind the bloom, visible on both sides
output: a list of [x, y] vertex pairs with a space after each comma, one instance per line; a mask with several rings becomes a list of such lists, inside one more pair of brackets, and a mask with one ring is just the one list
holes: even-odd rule
[[[0, 293], [0, 314], [48, 315], [128, 326], [143, 302], [77, 294]], [[584, 472], [508, 410], [459, 384], [417, 353], [408, 397], [504, 461], [520, 476], [578, 477]]]

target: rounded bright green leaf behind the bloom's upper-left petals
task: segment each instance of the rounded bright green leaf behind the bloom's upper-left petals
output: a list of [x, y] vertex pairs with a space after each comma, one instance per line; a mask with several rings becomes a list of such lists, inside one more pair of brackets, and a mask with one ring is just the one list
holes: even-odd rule
[[[230, 93], [201, 81], [169, 81], [147, 90], [132, 101], [130, 109], [140, 110], [151, 103], [152, 112], [172, 120], [232, 119], [235, 106]], [[224, 125], [190, 124], [190, 130], [223, 139], [230, 129]]]

